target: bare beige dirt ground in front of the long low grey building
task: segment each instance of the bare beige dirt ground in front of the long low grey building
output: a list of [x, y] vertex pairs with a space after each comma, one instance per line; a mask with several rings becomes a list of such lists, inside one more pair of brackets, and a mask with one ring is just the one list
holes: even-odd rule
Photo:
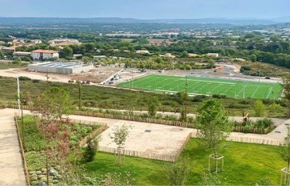
[[[113, 73], [120, 71], [119, 68], [94, 68], [89, 72], [77, 73], [73, 75], [65, 75], [58, 73], [48, 73], [49, 81], [52, 82], [68, 82], [69, 80], [85, 80], [93, 84], [97, 84], [109, 78]], [[3, 69], [0, 70], [0, 75], [5, 77], [17, 78], [25, 76], [33, 80], [47, 80], [46, 73], [27, 71], [26, 69]]]

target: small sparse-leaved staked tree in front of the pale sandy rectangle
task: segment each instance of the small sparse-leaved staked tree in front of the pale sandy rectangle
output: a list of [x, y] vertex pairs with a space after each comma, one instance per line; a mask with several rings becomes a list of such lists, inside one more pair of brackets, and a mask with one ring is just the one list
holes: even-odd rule
[[115, 128], [113, 128], [113, 134], [111, 134], [111, 139], [118, 146], [118, 165], [121, 163], [121, 149], [129, 136], [129, 128], [131, 128], [131, 126], [126, 126], [125, 124], [121, 127], [115, 126]]

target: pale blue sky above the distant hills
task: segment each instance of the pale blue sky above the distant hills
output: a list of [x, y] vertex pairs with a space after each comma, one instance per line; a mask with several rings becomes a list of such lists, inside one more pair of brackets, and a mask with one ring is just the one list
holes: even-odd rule
[[135, 19], [277, 18], [290, 0], [0, 0], [0, 16]]

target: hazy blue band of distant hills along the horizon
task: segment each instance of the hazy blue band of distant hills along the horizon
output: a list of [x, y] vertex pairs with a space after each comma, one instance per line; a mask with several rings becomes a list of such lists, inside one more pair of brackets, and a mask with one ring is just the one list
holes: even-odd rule
[[60, 23], [230, 23], [234, 25], [271, 25], [290, 22], [290, 17], [278, 19], [131, 19], [117, 17], [99, 18], [36, 18], [36, 17], [0, 17], [1, 25], [34, 25]]

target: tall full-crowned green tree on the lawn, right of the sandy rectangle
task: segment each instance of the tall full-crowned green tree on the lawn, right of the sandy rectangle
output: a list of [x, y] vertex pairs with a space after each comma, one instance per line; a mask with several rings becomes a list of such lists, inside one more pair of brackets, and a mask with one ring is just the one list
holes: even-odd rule
[[199, 137], [204, 139], [205, 143], [212, 148], [214, 152], [215, 167], [217, 173], [217, 158], [219, 157], [219, 148], [225, 141], [228, 132], [231, 130], [231, 124], [225, 114], [223, 105], [216, 100], [207, 100], [199, 108], [197, 116], [197, 129]]

